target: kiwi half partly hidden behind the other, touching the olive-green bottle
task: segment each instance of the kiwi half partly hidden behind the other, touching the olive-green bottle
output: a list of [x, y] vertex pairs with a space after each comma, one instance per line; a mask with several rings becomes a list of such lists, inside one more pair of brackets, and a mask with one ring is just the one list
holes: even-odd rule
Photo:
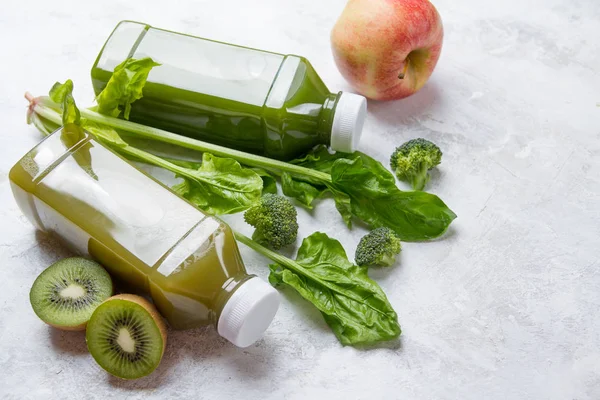
[[108, 272], [82, 257], [55, 262], [37, 277], [29, 300], [45, 323], [64, 330], [83, 330], [92, 313], [112, 295]]

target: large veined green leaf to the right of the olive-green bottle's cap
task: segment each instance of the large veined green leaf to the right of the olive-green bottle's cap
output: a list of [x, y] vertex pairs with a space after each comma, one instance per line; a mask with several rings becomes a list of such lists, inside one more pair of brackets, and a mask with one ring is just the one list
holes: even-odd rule
[[348, 261], [335, 239], [316, 232], [304, 239], [296, 261], [271, 265], [269, 281], [285, 283], [314, 304], [345, 345], [375, 343], [400, 335], [398, 316], [365, 268]]

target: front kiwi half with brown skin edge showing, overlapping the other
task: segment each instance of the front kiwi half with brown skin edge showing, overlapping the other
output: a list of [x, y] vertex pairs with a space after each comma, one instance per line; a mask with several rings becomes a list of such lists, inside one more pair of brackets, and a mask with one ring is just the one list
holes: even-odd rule
[[158, 367], [167, 343], [167, 329], [158, 311], [132, 294], [102, 303], [86, 330], [88, 350], [108, 373], [137, 379]]

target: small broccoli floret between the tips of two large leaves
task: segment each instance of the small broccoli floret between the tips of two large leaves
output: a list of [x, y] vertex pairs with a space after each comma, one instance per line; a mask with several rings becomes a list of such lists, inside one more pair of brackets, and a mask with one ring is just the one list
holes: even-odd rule
[[356, 247], [355, 261], [360, 266], [389, 267], [402, 250], [400, 238], [390, 228], [377, 228], [363, 236]]

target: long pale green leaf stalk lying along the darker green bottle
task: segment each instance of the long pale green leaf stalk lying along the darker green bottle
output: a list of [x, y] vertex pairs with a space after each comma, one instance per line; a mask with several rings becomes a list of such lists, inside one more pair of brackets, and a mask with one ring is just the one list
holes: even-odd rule
[[[51, 121], [56, 121], [56, 116], [60, 117], [60, 113], [51, 107], [43, 104], [43, 102], [34, 105], [34, 111]], [[186, 136], [177, 135], [172, 132], [164, 131], [158, 128], [152, 128], [146, 125], [137, 124], [131, 121], [125, 121], [118, 118], [107, 117], [102, 114], [98, 114], [92, 110], [81, 110], [81, 116], [103, 125], [110, 126], [114, 129], [118, 129], [124, 134], [131, 136], [143, 137], [146, 139], [157, 140], [163, 143], [174, 144], [177, 146], [185, 147], [191, 150], [197, 150], [201, 152], [207, 152], [220, 157], [230, 157], [242, 164], [250, 165], [253, 167], [262, 167], [266, 169], [275, 169], [280, 171], [289, 172], [290, 174], [308, 176], [314, 179], [318, 179], [324, 182], [324, 184], [331, 183], [331, 175], [324, 172], [315, 171], [309, 168], [300, 167], [298, 165], [289, 164], [283, 161], [273, 160], [271, 158], [257, 156], [250, 153], [245, 153], [239, 150], [228, 149], [227, 147], [215, 145], [212, 143], [206, 143], [197, 139], [188, 138]], [[60, 119], [60, 118], [59, 118]], [[60, 123], [60, 121], [58, 122]]]

